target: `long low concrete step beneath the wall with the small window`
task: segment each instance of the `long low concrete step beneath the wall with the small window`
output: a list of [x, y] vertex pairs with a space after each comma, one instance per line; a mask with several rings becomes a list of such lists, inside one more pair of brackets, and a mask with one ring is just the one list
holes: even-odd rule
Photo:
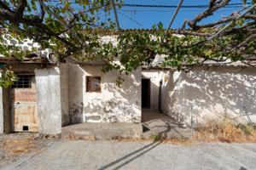
[[109, 140], [140, 138], [143, 133], [141, 123], [97, 123], [86, 122], [62, 127], [62, 137], [71, 139]]

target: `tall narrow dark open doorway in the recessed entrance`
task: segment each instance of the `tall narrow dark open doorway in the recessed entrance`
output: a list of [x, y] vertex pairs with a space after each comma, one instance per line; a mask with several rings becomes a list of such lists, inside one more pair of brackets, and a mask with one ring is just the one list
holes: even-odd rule
[[150, 80], [142, 80], [142, 107], [150, 109]]

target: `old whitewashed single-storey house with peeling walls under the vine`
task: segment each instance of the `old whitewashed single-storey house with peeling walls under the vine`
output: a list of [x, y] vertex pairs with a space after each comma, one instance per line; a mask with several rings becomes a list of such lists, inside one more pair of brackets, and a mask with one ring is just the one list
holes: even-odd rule
[[119, 88], [118, 72], [103, 73], [100, 63], [1, 57], [0, 64], [10, 65], [19, 80], [0, 88], [0, 133], [56, 134], [83, 122], [141, 123], [148, 110], [189, 127], [223, 116], [256, 122], [256, 68], [208, 63], [184, 72], [159, 68], [160, 61], [125, 76]]

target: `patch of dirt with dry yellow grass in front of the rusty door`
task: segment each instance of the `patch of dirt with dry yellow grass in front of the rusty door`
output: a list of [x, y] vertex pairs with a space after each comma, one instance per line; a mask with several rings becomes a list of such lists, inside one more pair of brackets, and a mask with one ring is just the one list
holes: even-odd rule
[[53, 139], [38, 133], [11, 133], [0, 135], [0, 168], [28, 155], [45, 150]]

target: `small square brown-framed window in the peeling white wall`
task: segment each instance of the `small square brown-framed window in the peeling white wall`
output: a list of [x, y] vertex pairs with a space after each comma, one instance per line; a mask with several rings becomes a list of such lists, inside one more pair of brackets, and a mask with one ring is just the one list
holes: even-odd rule
[[86, 77], [86, 92], [101, 92], [101, 77]]

